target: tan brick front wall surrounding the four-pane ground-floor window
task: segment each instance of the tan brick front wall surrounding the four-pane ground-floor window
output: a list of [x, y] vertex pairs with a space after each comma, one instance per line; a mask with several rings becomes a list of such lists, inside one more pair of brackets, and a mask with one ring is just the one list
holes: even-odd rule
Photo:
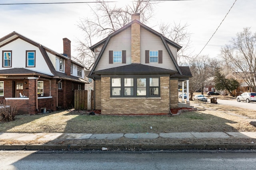
[[169, 113], [169, 77], [160, 77], [159, 98], [111, 98], [110, 99], [110, 77], [101, 79], [101, 113], [102, 114], [150, 114]]

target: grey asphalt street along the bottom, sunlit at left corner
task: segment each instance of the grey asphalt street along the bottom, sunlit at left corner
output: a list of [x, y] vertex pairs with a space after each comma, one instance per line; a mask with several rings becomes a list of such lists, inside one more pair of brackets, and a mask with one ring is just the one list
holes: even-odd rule
[[255, 170], [256, 152], [38, 152], [0, 151], [1, 170]]

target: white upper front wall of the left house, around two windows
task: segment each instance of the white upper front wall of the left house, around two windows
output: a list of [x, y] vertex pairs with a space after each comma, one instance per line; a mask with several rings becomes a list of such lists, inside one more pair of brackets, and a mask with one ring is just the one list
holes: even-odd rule
[[[26, 50], [36, 51], [36, 67], [27, 67], [28, 69], [52, 75], [38, 47], [22, 39], [16, 39], [0, 48], [0, 65], [2, 65], [2, 51], [12, 51], [12, 68], [26, 68]], [[10, 67], [1, 67], [1, 69], [10, 69]]]

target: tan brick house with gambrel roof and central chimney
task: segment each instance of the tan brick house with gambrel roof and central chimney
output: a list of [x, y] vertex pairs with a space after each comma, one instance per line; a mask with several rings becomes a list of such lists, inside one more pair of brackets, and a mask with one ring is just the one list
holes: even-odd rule
[[182, 47], [140, 22], [140, 15], [90, 49], [94, 107], [102, 114], [169, 113], [178, 107], [178, 81], [192, 77], [177, 63]]

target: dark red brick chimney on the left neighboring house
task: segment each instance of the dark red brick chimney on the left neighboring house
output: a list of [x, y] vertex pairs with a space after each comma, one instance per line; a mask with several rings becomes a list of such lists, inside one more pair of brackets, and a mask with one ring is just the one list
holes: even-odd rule
[[63, 39], [63, 55], [67, 56], [69, 59], [65, 59], [65, 73], [70, 76], [71, 67], [71, 41], [67, 38]]

